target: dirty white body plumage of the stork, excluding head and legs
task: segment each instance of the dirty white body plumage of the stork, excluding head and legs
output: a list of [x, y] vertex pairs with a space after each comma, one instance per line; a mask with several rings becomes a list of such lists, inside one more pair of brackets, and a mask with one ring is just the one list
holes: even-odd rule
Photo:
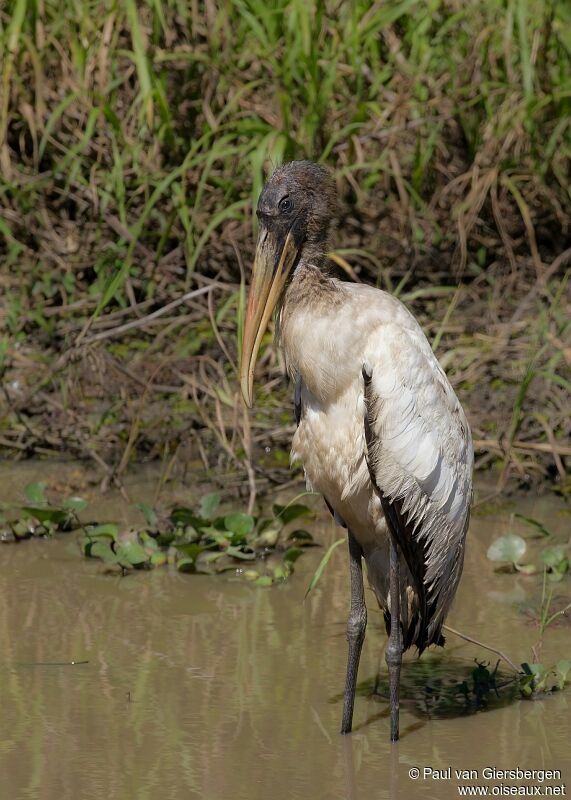
[[[323, 282], [301, 262], [292, 284]], [[301, 418], [292, 459], [352, 531], [379, 603], [389, 608], [387, 527], [378, 490], [402, 512], [424, 543], [427, 599], [436, 605], [428, 641], [437, 641], [460, 578], [472, 495], [473, 451], [466, 417], [417, 321], [391, 295], [329, 279], [320, 304], [293, 286], [279, 322], [288, 370], [301, 380]], [[371, 376], [365, 403], [363, 368]], [[367, 446], [365, 417], [372, 441]], [[371, 472], [374, 473], [374, 480]], [[375, 485], [376, 484], [376, 485]], [[418, 610], [408, 573], [405, 627]], [[412, 633], [411, 633], [412, 636]]]

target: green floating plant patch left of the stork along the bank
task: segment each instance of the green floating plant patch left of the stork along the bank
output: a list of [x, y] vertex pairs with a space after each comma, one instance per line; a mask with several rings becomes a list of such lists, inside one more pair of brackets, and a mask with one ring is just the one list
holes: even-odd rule
[[124, 529], [112, 522], [82, 522], [78, 513], [87, 501], [70, 497], [50, 503], [43, 483], [29, 484], [24, 494], [27, 504], [4, 524], [2, 541], [79, 530], [83, 555], [122, 573], [169, 565], [182, 573], [234, 572], [271, 586], [285, 581], [304, 549], [315, 545], [309, 531], [293, 524], [312, 513], [295, 501], [275, 504], [269, 517], [222, 511], [218, 492], [204, 495], [197, 508], [176, 505], [161, 512], [139, 503], [144, 525]]

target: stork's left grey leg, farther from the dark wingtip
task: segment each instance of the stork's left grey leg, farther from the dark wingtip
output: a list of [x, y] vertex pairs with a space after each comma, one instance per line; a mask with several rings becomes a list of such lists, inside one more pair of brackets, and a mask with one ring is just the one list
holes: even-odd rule
[[355, 689], [357, 688], [357, 671], [361, 648], [365, 640], [367, 627], [367, 607], [365, 605], [365, 591], [363, 589], [363, 569], [361, 565], [361, 548], [351, 533], [348, 533], [349, 543], [349, 575], [351, 577], [351, 611], [347, 621], [347, 641], [349, 642], [349, 656], [347, 659], [347, 677], [345, 679], [345, 700], [343, 703], [343, 721], [341, 733], [351, 733], [353, 722], [353, 705], [355, 703]]

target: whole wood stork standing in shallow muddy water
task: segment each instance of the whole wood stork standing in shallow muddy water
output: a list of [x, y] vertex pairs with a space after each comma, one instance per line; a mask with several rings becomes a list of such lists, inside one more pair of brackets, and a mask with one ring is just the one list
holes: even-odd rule
[[351, 731], [367, 611], [362, 562], [389, 634], [391, 741], [399, 737], [402, 653], [443, 644], [464, 560], [473, 449], [458, 398], [419, 324], [390, 294], [331, 277], [337, 208], [329, 172], [277, 169], [260, 195], [259, 237], [241, 353], [252, 406], [254, 366], [275, 307], [295, 381], [292, 459], [347, 528], [351, 609], [341, 732]]

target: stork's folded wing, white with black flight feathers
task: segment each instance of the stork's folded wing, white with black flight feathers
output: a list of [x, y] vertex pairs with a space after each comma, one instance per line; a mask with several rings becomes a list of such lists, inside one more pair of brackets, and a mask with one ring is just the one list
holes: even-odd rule
[[422, 650], [440, 640], [462, 572], [472, 496], [470, 429], [412, 317], [406, 326], [381, 324], [369, 336], [363, 381], [367, 461], [415, 582], [419, 611], [408, 644]]

